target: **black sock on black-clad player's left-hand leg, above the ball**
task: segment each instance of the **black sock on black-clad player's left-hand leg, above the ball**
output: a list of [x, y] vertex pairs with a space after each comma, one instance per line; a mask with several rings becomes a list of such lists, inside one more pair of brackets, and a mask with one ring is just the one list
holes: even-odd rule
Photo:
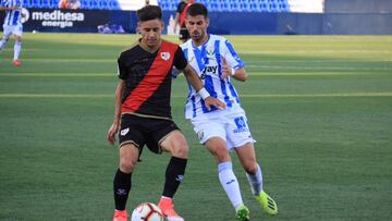
[[114, 204], [117, 210], [124, 210], [126, 199], [131, 191], [131, 175], [132, 173], [123, 173], [120, 169], [114, 175], [113, 189], [114, 189]]

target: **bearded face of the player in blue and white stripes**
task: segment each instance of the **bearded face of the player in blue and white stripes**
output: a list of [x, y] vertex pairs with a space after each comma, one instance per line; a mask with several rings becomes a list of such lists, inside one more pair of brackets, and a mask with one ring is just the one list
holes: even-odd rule
[[207, 27], [209, 25], [209, 20], [204, 15], [191, 16], [186, 17], [186, 28], [189, 32], [192, 40], [196, 44], [204, 42], [207, 36]]

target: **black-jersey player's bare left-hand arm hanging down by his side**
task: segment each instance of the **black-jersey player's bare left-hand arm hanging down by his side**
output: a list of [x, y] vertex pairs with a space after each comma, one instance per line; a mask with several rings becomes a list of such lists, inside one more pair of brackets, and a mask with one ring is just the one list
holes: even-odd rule
[[114, 118], [113, 118], [113, 123], [110, 126], [108, 134], [107, 134], [107, 139], [109, 142], [109, 144], [113, 145], [115, 142], [115, 134], [119, 131], [120, 127], [120, 121], [121, 121], [121, 99], [122, 99], [122, 95], [124, 93], [125, 89], [125, 81], [123, 79], [119, 79], [119, 83], [115, 87], [115, 94], [114, 94]]

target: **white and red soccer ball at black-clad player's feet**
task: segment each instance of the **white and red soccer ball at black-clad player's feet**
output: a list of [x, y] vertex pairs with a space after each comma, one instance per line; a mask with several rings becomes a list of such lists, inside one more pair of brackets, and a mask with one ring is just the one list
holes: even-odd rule
[[163, 221], [163, 213], [157, 205], [143, 202], [132, 212], [131, 221]]

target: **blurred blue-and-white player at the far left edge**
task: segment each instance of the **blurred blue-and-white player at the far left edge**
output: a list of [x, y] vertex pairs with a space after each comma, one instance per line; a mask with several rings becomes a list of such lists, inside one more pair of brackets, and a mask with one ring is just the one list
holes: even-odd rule
[[3, 37], [0, 40], [0, 52], [5, 47], [7, 41], [11, 35], [15, 36], [13, 65], [21, 66], [22, 62], [19, 60], [22, 49], [22, 7], [23, 0], [1, 0], [0, 11], [5, 11], [3, 24]]

